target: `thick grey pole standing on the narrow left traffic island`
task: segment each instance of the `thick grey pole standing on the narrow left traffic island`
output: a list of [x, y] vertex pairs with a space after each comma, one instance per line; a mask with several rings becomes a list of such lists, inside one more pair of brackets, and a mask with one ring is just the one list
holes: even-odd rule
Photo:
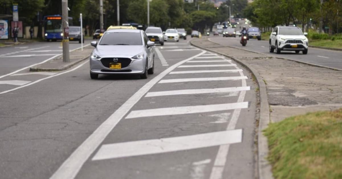
[[[63, 33], [65, 29], [69, 28], [69, 18], [68, 18], [68, 0], [62, 0], [62, 24], [63, 24]], [[69, 37], [63, 34], [63, 62], [69, 62]]]

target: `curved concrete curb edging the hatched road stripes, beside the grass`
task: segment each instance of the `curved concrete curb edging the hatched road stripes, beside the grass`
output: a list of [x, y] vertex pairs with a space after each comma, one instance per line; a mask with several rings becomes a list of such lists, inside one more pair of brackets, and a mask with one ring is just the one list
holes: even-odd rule
[[206, 48], [202, 48], [197, 45], [194, 45], [192, 41], [193, 40], [190, 41], [190, 44], [195, 47], [208, 50], [208, 51], [233, 59], [234, 61], [244, 66], [247, 70], [249, 70], [257, 79], [257, 83], [259, 87], [259, 94], [260, 94], [260, 119], [259, 119], [259, 128], [258, 128], [258, 173], [259, 173], [259, 179], [273, 179], [272, 167], [266, 159], [267, 154], [268, 154], [268, 142], [267, 142], [267, 138], [262, 133], [262, 131], [267, 128], [268, 123], [270, 122], [267, 91], [266, 91], [266, 85], [264, 81], [262, 80], [261, 76], [254, 68], [248, 66], [244, 62], [234, 57], [216, 52], [214, 50], [210, 50], [210, 49], [206, 49]]

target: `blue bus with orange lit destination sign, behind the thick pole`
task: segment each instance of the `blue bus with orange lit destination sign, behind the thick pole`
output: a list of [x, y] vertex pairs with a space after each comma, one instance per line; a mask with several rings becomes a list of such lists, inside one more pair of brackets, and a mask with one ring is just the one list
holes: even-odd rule
[[[61, 15], [44, 16], [44, 38], [49, 42], [63, 39], [63, 25]], [[73, 18], [69, 17], [69, 26]]]

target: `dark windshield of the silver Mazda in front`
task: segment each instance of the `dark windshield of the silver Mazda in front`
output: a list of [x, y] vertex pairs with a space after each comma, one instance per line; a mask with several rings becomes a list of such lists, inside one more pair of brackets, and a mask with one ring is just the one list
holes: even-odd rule
[[107, 32], [98, 45], [142, 45], [139, 32]]

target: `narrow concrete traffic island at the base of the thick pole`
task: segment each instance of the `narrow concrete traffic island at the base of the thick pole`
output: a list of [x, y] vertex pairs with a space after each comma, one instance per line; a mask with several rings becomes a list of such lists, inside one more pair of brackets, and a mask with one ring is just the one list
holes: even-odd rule
[[63, 56], [57, 56], [54, 59], [51, 59], [45, 63], [39, 64], [30, 68], [30, 71], [63, 71], [66, 70], [77, 63], [86, 60], [89, 58], [91, 52], [93, 51], [93, 46], [83, 47], [83, 51], [81, 49], [77, 49], [75, 51], [70, 52], [70, 62], [63, 62]]

